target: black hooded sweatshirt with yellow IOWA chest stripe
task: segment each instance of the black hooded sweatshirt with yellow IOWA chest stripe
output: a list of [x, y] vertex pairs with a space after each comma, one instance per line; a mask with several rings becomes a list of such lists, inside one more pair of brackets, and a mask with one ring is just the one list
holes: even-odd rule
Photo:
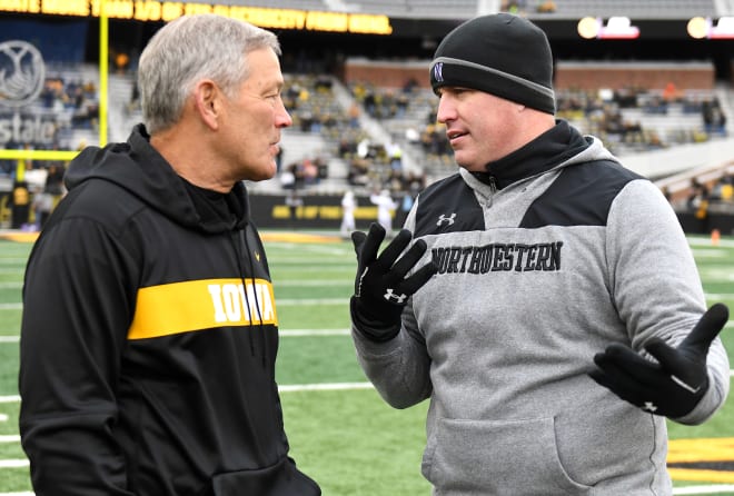
[[20, 433], [38, 495], [310, 496], [288, 457], [278, 319], [247, 191], [150, 146], [90, 147], [31, 252]]

